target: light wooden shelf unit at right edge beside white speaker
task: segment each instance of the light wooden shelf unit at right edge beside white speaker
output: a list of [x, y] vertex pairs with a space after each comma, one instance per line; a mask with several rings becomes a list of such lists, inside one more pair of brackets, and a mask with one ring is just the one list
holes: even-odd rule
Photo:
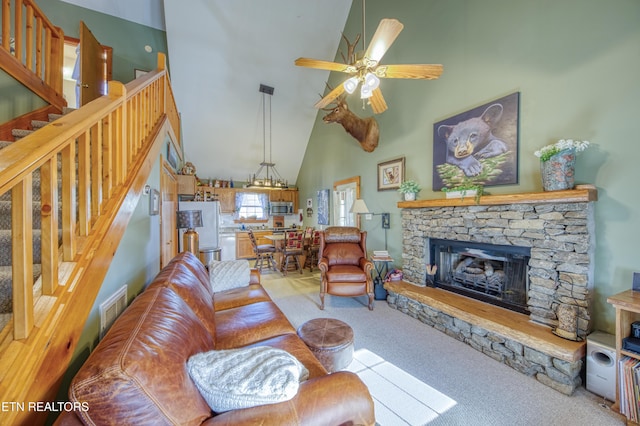
[[[616, 401], [614, 408], [619, 410], [620, 407], [620, 377], [618, 363], [620, 358], [628, 356], [640, 360], [640, 354], [636, 352], [625, 351], [622, 349], [622, 339], [629, 337], [631, 334], [631, 323], [640, 321], [640, 291], [626, 290], [622, 293], [613, 295], [607, 299], [607, 302], [616, 309]], [[637, 424], [627, 421], [627, 424]]]

